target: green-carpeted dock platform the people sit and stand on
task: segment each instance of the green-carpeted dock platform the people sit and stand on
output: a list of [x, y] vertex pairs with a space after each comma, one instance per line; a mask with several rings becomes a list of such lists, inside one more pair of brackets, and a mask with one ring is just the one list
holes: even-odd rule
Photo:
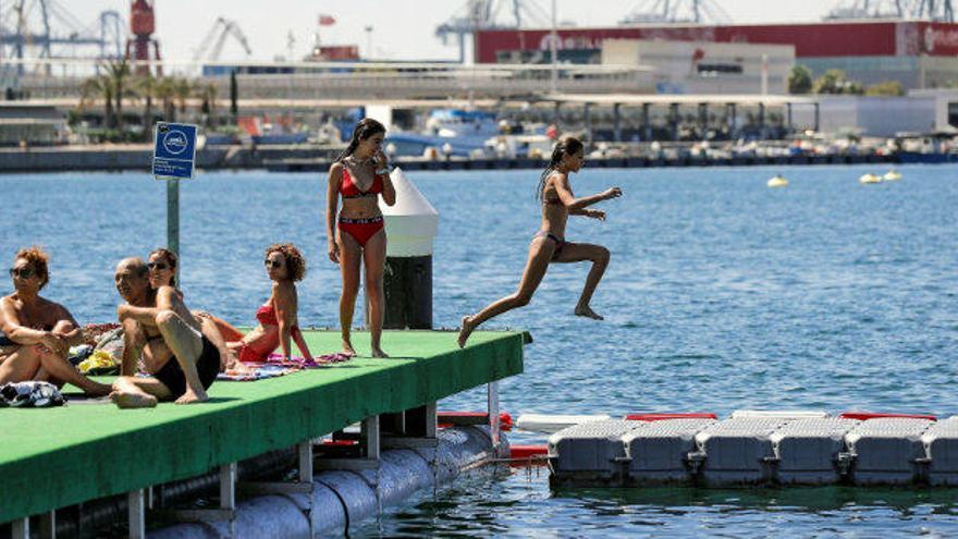
[[[339, 332], [305, 335], [315, 354], [339, 350]], [[206, 474], [523, 372], [528, 333], [477, 331], [463, 350], [455, 339], [455, 332], [386, 331], [391, 358], [217, 382], [210, 402], [197, 405], [0, 408], [0, 523]], [[361, 354], [369, 336], [355, 333], [354, 342]]]

